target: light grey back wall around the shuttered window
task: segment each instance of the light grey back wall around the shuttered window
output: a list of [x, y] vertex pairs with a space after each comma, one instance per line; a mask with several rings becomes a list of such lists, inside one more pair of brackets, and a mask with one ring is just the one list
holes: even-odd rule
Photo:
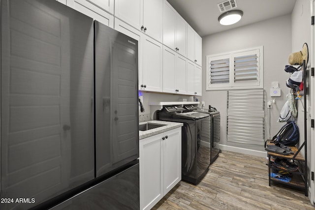
[[[264, 90], [267, 101], [275, 98], [272, 104], [269, 135], [269, 109], [266, 107], [265, 137], [272, 138], [283, 123], [277, 122], [279, 113], [286, 101], [289, 89], [285, 81], [289, 75], [284, 71], [291, 53], [291, 15], [284, 15], [252, 25], [202, 37], [202, 101], [206, 107], [211, 104], [221, 112], [221, 144], [250, 150], [265, 151], [262, 146], [253, 146], [226, 141], [226, 90], [206, 91], [206, 56], [237, 51], [252, 47], [264, 48]], [[281, 97], [270, 97], [271, 83], [278, 81], [282, 89]], [[254, 152], [254, 151], [253, 151]], [[254, 153], [253, 153], [254, 154]]]

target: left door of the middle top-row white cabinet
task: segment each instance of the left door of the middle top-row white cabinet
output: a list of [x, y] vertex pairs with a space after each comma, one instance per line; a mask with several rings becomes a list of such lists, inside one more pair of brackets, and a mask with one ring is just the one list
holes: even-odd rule
[[163, 7], [163, 44], [175, 50], [176, 10], [164, 0]]

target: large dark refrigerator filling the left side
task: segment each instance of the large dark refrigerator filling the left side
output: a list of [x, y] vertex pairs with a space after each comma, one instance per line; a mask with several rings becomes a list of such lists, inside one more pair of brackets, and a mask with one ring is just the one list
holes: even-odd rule
[[1, 0], [1, 210], [139, 209], [138, 43]]

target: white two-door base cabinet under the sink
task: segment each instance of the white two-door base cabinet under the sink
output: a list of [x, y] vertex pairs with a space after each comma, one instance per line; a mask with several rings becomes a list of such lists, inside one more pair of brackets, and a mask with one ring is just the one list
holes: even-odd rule
[[139, 142], [140, 209], [150, 210], [182, 179], [182, 128]]

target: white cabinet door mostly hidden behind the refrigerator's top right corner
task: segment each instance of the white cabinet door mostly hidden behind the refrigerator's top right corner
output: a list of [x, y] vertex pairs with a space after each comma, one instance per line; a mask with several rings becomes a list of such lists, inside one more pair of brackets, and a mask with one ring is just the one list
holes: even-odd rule
[[[131, 38], [134, 38], [138, 41], [138, 85], [139, 90], [141, 90], [141, 84], [142, 84], [142, 50], [141, 50], [141, 35], [142, 33], [139, 30], [136, 30], [135, 28], [129, 26], [125, 22], [119, 20], [118, 18], [115, 18], [115, 30], [118, 30]], [[141, 59], [140, 59], [141, 58]]]

